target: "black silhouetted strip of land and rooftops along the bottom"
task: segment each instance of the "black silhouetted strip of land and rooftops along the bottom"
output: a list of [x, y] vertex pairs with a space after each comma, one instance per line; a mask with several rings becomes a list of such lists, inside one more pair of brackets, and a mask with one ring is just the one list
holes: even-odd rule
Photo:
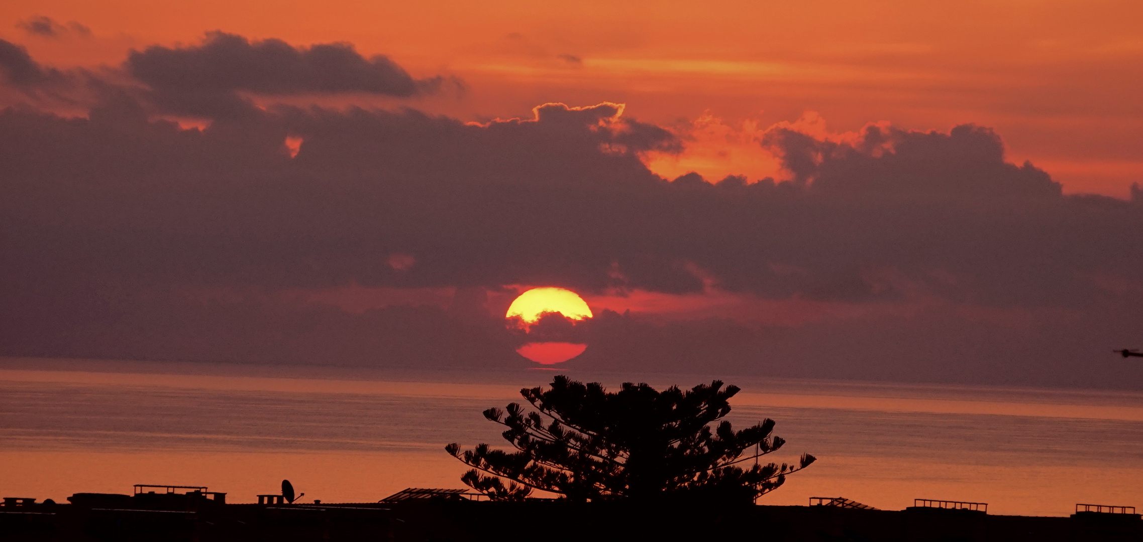
[[[168, 503], [169, 504], [169, 503]], [[183, 508], [183, 509], [178, 509]], [[22, 541], [1143, 541], [1135, 515], [990, 516], [940, 509], [702, 503], [405, 501], [393, 504], [0, 507]]]

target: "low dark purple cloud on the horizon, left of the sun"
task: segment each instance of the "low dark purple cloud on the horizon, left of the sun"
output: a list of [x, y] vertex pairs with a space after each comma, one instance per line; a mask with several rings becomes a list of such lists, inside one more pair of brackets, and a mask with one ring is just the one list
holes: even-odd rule
[[[5, 314], [5, 355], [61, 353], [110, 359], [390, 367], [525, 369], [502, 327], [478, 326], [430, 306], [391, 306], [350, 314], [322, 304], [270, 296], [202, 298], [150, 290], [111, 299], [41, 297], [64, 319], [33, 310]], [[110, 301], [110, 302], [106, 302]], [[82, 315], [71, 310], [83, 312]], [[69, 316], [70, 314], [70, 316]], [[53, 333], [50, 330], [66, 333]]]

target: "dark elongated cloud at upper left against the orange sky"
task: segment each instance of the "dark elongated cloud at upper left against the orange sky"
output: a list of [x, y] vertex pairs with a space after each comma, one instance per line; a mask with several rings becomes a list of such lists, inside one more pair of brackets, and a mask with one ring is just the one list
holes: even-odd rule
[[433, 94], [442, 78], [414, 79], [383, 55], [366, 58], [349, 43], [295, 47], [210, 32], [189, 47], [133, 50], [125, 70], [150, 86], [166, 111], [213, 116], [247, 110], [239, 92], [283, 96], [365, 92], [414, 97]]

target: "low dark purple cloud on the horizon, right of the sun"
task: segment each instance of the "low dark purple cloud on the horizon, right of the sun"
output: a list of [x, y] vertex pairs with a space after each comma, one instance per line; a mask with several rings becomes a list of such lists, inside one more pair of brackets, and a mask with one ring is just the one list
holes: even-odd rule
[[1138, 312], [1106, 309], [1100, 317], [1034, 309], [981, 317], [969, 314], [978, 308], [933, 304], [797, 327], [600, 312], [588, 350], [567, 369], [1140, 389], [1143, 374], [1106, 348], [1137, 337]]

